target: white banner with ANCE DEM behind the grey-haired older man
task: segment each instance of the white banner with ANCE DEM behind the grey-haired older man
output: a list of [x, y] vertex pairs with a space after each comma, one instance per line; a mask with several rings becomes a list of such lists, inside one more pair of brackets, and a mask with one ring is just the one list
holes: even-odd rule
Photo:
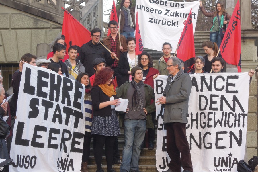
[[[247, 72], [190, 76], [192, 89], [186, 136], [193, 171], [237, 172], [237, 163], [245, 155], [250, 77]], [[155, 79], [155, 99], [163, 95], [166, 79], [167, 76], [163, 75]], [[162, 172], [169, 169], [170, 158], [163, 124], [164, 108], [157, 104], [156, 166]]]

